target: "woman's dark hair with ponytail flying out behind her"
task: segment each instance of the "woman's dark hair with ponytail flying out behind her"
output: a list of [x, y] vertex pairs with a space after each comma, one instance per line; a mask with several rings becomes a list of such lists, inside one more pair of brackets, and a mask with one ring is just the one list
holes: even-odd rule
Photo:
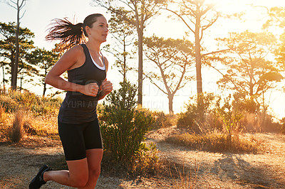
[[86, 37], [88, 37], [85, 27], [89, 26], [92, 28], [93, 23], [96, 22], [100, 16], [103, 15], [100, 13], [90, 14], [84, 19], [83, 23], [77, 23], [76, 25], [68, 21], [67, 18], [54, 19], [53, 23], [51, 23], [53, 26], [48, 29], [49, 33], [48, 36], [46, 36], [46, 40], [60, 40], [59, 45], [61, 45], [63, 50], [84, 43], [86, 42]]

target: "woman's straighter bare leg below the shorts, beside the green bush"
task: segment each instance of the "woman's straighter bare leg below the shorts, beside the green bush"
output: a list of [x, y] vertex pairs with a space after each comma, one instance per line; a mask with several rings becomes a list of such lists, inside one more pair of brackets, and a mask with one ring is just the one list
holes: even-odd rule
[[[103, 156], [103, 149], [89, 149], [86, 150], [88, 161], [88, 183], [83, 187], [84, 189], [94, 189], [100, 175], [100, 163]], [[82, 188], [82, 189], [83, 189]]]

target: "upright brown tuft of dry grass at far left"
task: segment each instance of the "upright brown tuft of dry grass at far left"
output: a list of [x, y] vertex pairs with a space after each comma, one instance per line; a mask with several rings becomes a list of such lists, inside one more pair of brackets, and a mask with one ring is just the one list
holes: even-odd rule
[[17, 111], [12, 126], [7, 131], [9, 141], [18, 143], [24, 136], [24, 113]]

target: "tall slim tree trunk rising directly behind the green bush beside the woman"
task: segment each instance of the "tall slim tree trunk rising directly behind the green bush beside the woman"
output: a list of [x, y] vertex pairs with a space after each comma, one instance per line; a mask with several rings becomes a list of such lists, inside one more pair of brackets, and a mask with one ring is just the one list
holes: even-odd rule
[[142, 36], [143, 28], [138, 28], [138, 104], [142, 105]]

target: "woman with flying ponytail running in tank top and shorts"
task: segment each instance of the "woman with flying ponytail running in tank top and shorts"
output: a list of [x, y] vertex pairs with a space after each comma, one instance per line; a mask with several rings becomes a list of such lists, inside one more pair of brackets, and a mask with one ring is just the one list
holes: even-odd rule
[[[106, 79], [108, 60], [100, 53], [107, 35], [106, 18], [95, 13], [76, 25], [57, 19], [46, 36], [47, 40], [60, 40], [69, 49], [46, 75], [47, 84], [67, 91], [58, 113], [58, 134], [68, 171], [42, 166], [30, 189], [40, 188], [49, 180], [75, 188], [95, 188], [103, 156], [96, 107], [98, 100], [113, 90]], [[86, 37], [88, 42], [84, 43]], [[68, 81], [60, 77], [66, 70]]]

